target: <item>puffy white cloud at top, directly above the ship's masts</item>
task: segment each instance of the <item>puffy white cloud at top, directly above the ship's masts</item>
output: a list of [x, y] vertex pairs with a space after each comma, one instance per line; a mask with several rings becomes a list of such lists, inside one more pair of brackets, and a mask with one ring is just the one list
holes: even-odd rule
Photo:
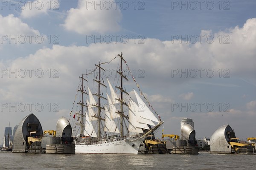
[[104, 1], [79, 0], [77, 8], [67, 11], [67, 18], [62, 26], [79, 34], [104, 34], [119, 31], [122, 14], [119, 8], [114, 8], [115, 4], [112, 1], [108, 1], [112, 6], [110, 9], [89, 6], [88, 2], [104, 3]]

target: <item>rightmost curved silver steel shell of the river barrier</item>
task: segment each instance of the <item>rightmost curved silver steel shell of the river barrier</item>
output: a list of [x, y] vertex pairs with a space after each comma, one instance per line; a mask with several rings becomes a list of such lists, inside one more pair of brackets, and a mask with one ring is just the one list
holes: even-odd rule
[[211, 153], [231, 153], [230, 138], [235, 138], [235, 133], [230, 125], [223, 125], [212, 133], [210, 139]]

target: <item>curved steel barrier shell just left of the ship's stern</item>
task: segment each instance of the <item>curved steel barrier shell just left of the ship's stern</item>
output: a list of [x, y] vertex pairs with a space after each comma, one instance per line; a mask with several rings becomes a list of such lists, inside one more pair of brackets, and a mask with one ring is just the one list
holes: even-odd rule
[[61, 117], [58, 119], [56, 125], [56, 136], [57, 137], [71, 137], [72, 134], [72, 127], [70, 122], [65, 118]]

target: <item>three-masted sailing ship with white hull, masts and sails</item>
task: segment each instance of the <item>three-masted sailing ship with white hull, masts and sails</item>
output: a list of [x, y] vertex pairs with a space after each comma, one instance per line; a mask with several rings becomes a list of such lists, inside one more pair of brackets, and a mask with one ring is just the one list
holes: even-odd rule
[[[129, 80], [127, 75], [123, 74], [124, 70], [122, 68], [122, 62], [125, 62], [126, 65], [127, 63], [122, 57], [122, 54], [118, 56], [120, 57], [120, 65], [118, 65], [119, 71], [116, 72], [119, 78], [115, 79], [118, 81], [115, 82], [115, 86], [107, 79], [107, 87], [104, 82], [105, 79], [103, 79], [104, 77], [100, 74], [101, 70], [104, 71], [102, 64], [109, 62], [99, 62], [99, 65], [96, 65], [97, 68], [94, 70], [98, 70], [99, 74], [96, 79], [93, 79], [93, 81], [97, 83], [98, 91], [93, 94], [92, 92], [94, 91], [90, 91], [88, 87], [88, 99], [82, 98], [82, 102], [78, 103], [84, 106], [83, 103], [86, 100], [88, 107], [87, 110], [83, 110], [84, 116], [82, 118], [84, 119], [81, 119], [83, 120], [81, 123], [83, 123], [84, 126], [81, 123], [76, 125], [80, 125], [81, 128], [84, 128], [84, 135], [90, 137], [77, 136], [75, 140], [76, 153], [137, 154], [141, 142], [143, 142], [151, 132], [163, 124], [161, 121], [158, 122], [158, 119], [143, 102], [144, 99], [142, 100], [136, 92], [137, 102], [135, 102], [138, 103], [138, 105], [134, 101], [130, 101], [130, 95], [124, 87], [124, 83]], [[83, 76], [81, 79], [84, 80]], [[101, 91], [101, 87], [103, 86], [107, 88], [106, 91], [110, 91], [110, 93], [106, 94], [106, 91]], [[81, 87], [84, 87], [83, 81]], [[82, 88], [82, 90], [79, 91], [83, 90]], [[103, 95], [107, 96], [104, 97]], [[106, 98], [108, 101], [101, 100]], [[77, 107], [77, 109], [80, 109], [80, 107]], [[74, 119], [74, 121], [76, 121], [76, 119]], [[79, 121], [79, 119], [77, 119], [77, 121]], [[155, 122], [158, 122], [158, 124], [155, 125]], [[152, 128], [150, 128], [149, 125], [151, 125]]]

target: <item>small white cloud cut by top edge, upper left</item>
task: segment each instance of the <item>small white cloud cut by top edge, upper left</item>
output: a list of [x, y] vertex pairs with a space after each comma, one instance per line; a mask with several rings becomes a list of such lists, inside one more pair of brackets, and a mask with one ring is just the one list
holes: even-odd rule
[[37, 17], [42, 14], [47, 14], [50, 10], [57, 10], [59, 8], [58, 0], [35, 0], [27, 1], [24, 6], [20, 7], [20, 16], [23, 18]]

